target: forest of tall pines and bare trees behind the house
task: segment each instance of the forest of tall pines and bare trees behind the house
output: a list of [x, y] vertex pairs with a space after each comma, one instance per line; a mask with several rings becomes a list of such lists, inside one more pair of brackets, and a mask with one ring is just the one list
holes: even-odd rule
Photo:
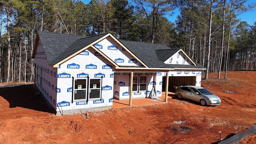
[[[0, 82], [34, 81], [37, 31], [93, 36], [181, 48], [208, 73], [255, 70], [256, 22], [240, 21], [255, 10], [246, 0], [0, 0]], [[167, 17], [178, 9], [175, 22]]]

